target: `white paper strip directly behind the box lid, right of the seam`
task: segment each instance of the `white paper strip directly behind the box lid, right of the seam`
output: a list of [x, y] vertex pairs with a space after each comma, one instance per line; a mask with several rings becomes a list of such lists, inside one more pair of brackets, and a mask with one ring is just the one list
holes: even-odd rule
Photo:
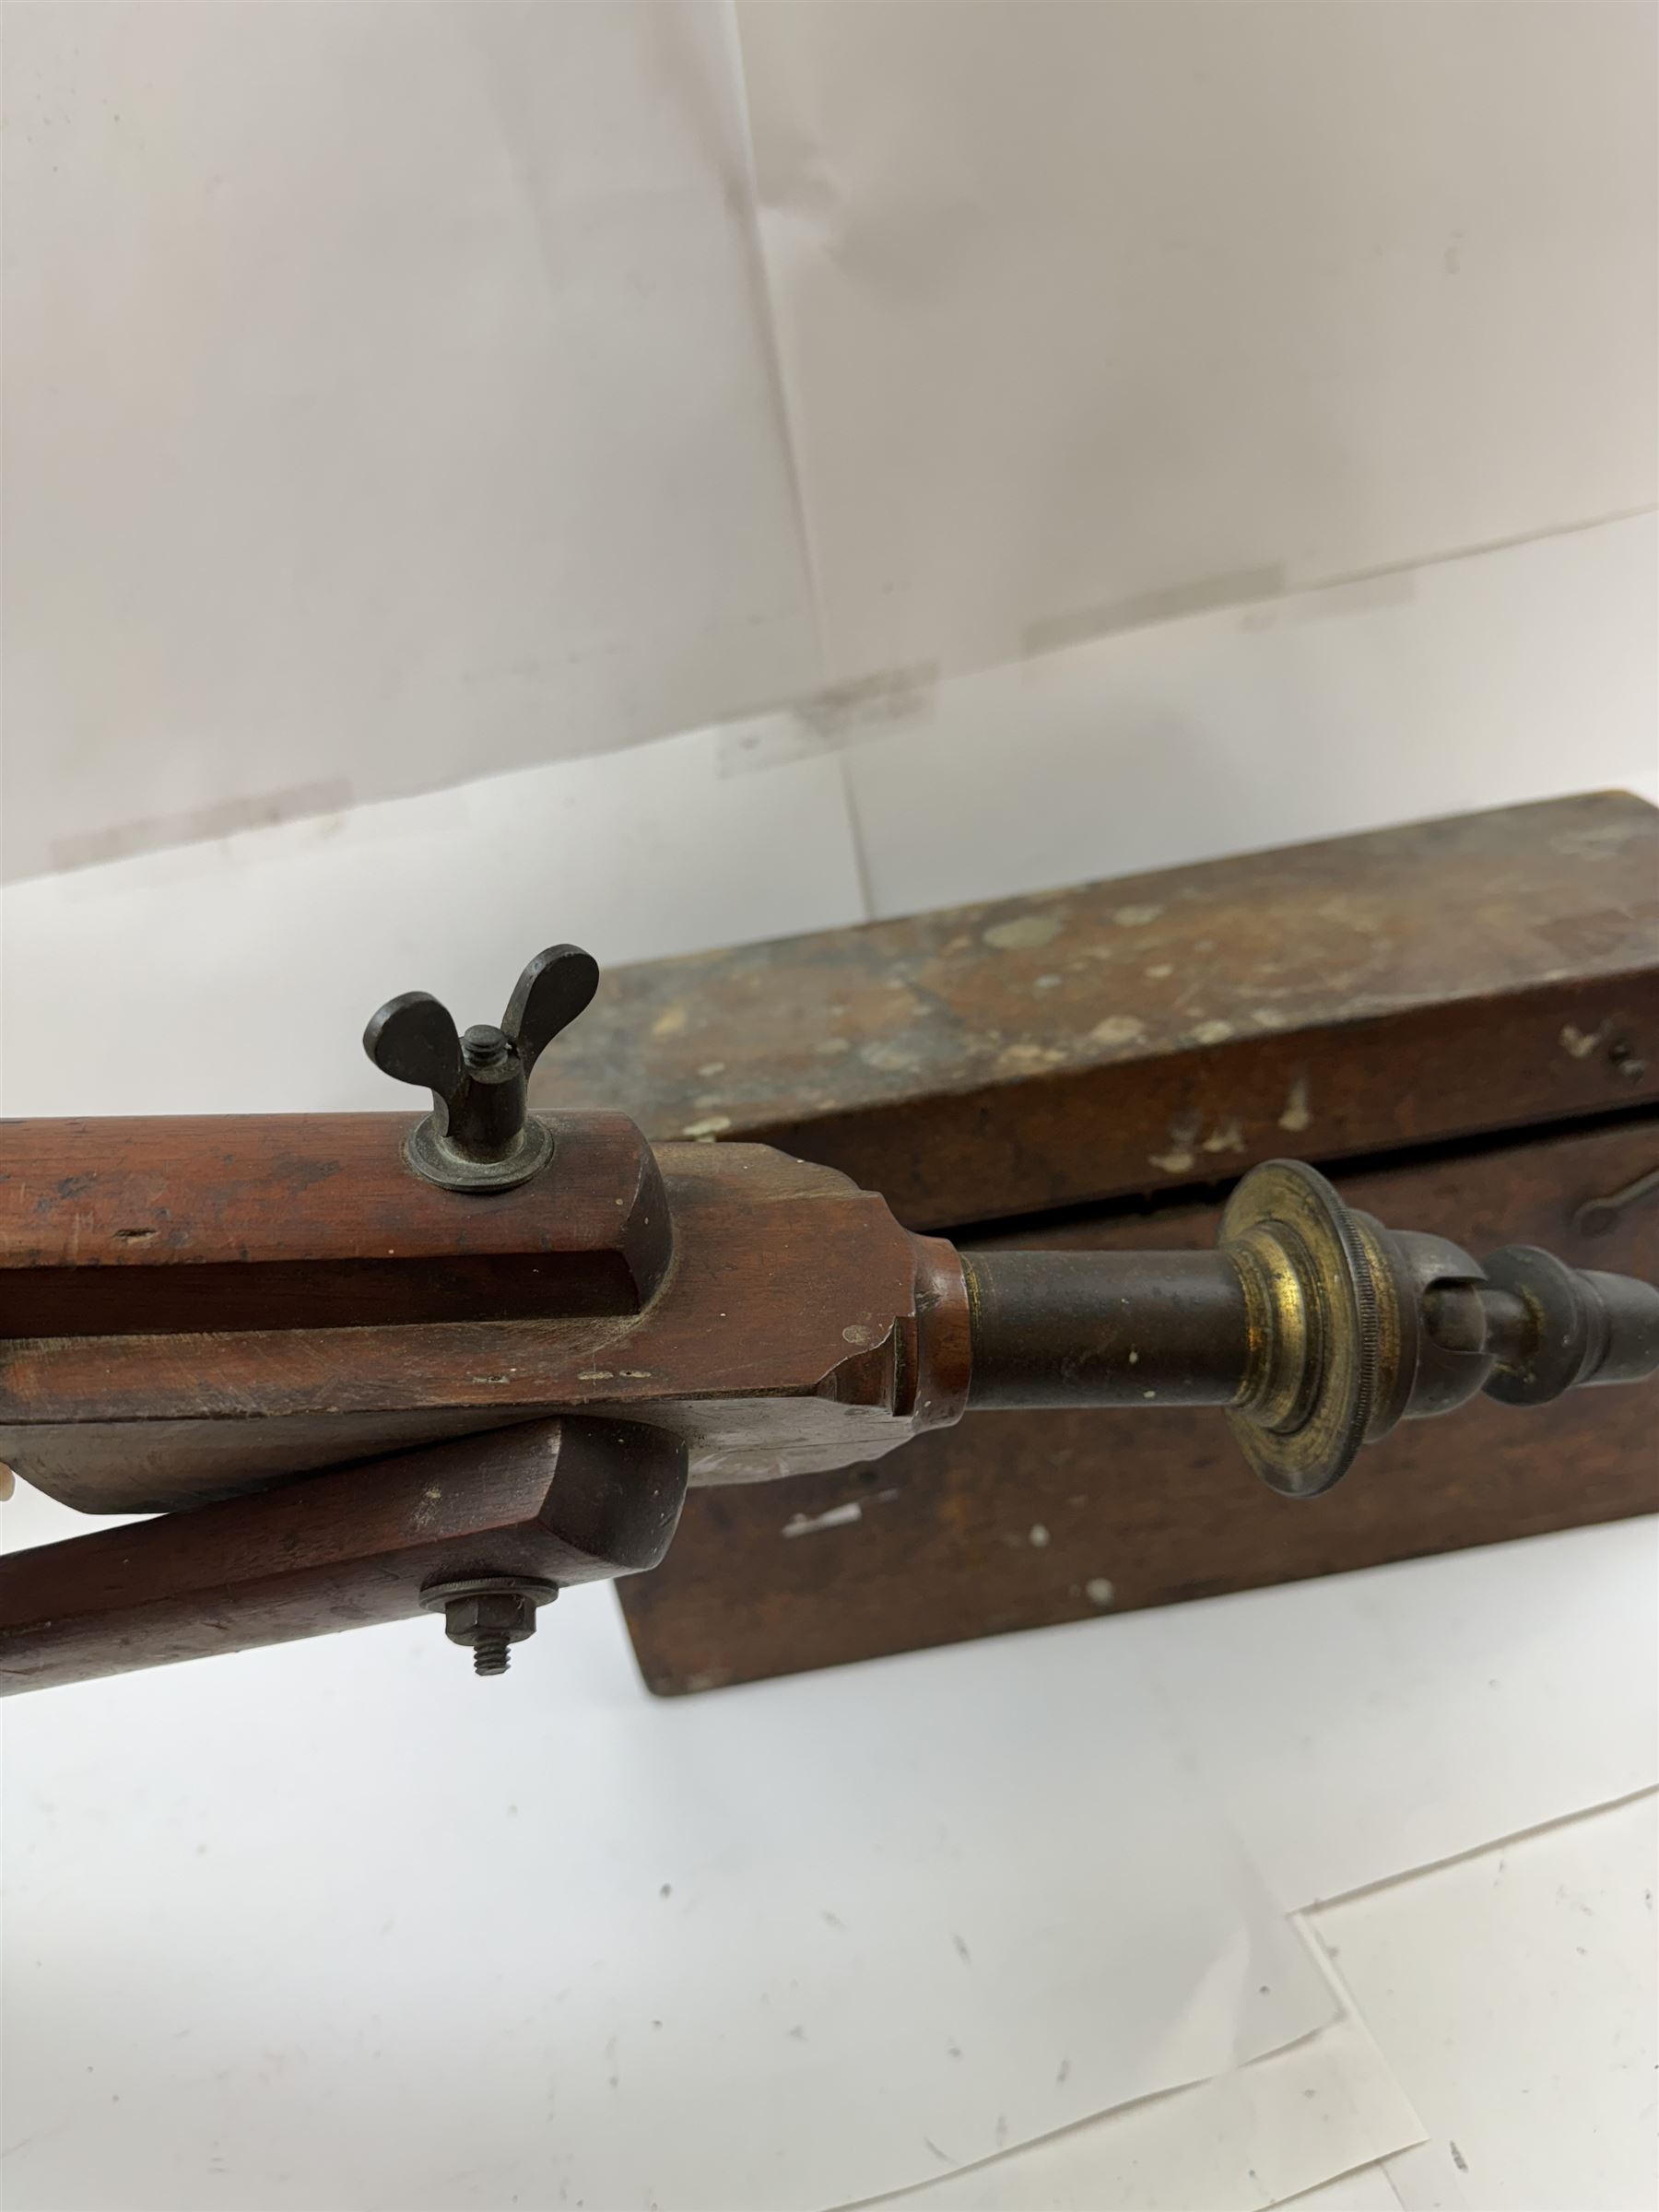
[[[1562, 792], [1659, 801], [1657, 604], [1646, 513], [947, 679], [925, 712], [852, 732], [872, 909]], [[785, 737], [787, 717], [770, 717], [728, 732], [726, 757], [790, 759]]]

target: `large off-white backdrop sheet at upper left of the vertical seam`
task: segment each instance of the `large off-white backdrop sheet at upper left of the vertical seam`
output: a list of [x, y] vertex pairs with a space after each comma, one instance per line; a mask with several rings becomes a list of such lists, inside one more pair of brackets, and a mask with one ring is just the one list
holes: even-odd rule
[[11, 867], [823, 684], [721, 7], [42, 9], [7, 84]]

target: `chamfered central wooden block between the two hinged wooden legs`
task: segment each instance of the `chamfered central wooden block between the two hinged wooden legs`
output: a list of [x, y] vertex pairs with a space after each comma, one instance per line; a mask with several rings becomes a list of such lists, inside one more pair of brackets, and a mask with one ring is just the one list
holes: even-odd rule
[[[288, 1157], [303, 1159], [307, 1144], [323, 1157], [338, 1150], [336, 1133], [316, 1133], [305, 1117], [279, 1130]], [[549, 1214], [622, 1221], [626, 1192], [613, 1166], [595, 1157], [595, 1188], [584, 1194], [571, 1144]], [[832, 1168], [761, 1146], [661, 1146], [657, 1172], [653, 1203], [661, 1210], [666, 1197], [672, 1217], [672, 1267], [639, 1312], [571, 1307], [553, 1281], [531, 1285], [507, 1314], [385, 1321], [365, 1305], [310, 1307], [319, 1263], [303, 1263], [296, 1310], [281, 1327], [265, 1318], [248, 1327], [230, 1305], [206, 1327], [164, 1329], [135, 1305], [119, 1332], [0, 1340], [0, 1460], [86, 1513], [148, 1513], [549, 1411], [648, 1420], [688, 1444], [699, 1482], [841, 1467], [956, 1416], [967, 1394], [967, 1290], [951, 1252], [902, 1230], [880, 1197]], [[449, 1199], [473, 1208], [471, 1225], [502, 1206], [403, 1181], [411, 1214]], [[199, 1172], [186, 1148], [166, 1188], [177, 1219], [204, 1223], [188, 1250], [217, 1252], [215, 1223], [237, 1217], [243, 1186]], [[343, 1217], [358, 1203], [349, 1177], [336, 1181], [334, 1203]], [[385, 1203], [376, 1234], [396, 1241], [392, 1201], [374, 1203]], [[352, 1237], [361, 1241], [361, 1230]], [[440, 1256], [396, 1265], [416, 1287], [449, 1274]], [[246, 1270], [259, 1274], [252, 1261]], [[164, 1272], [190, 1270], [93, 1265], [75, 1281], [97, 1285], [108, 1274], [139, 1285]], [[27, 1301], [33, 1272], [13, 1270], [13, 1281]]]

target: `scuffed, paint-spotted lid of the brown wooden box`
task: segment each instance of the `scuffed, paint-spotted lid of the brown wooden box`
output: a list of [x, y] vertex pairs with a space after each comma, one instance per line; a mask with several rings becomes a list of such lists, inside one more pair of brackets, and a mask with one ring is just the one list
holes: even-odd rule
[[1659, 1099], [1659, 812], [1597, 792], [613, 969], [542, 1108], [953, 1228]]

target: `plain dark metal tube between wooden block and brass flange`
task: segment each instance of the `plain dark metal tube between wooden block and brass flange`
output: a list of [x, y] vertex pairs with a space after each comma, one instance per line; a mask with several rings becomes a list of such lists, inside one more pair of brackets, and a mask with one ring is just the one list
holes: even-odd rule
[[1225, 1252], [964, 1252], [971, 1407], [1232, 1405], [1250, 1312]]

